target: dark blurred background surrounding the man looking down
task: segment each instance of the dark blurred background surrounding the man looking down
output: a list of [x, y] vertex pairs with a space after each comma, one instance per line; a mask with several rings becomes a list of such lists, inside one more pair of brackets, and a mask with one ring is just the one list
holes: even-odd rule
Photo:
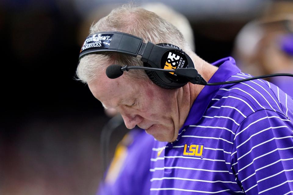
[[[74, 74], [91, 24], [127, 2], [0, 1], [0, 194], [96, 193], [101, 131], [110, 118]], [[161, 2], [185, 16], [207, 62], [233, 56], [255, 76], [293, 73], [291, 1], [132, 2]], [[108, 160], [127, 131], [121, 125], [112, 133]]]

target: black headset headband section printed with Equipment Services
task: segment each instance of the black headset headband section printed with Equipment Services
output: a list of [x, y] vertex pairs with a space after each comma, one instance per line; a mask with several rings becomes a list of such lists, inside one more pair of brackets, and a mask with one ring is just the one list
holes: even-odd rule
[[131, 34], [116, 31], [99, 32], [86, 37], [80, 50], [79, 59], [101, 51], [116, 51], [136, 57], [137, 54], [142, 55], [145, 46], [142, 38]]

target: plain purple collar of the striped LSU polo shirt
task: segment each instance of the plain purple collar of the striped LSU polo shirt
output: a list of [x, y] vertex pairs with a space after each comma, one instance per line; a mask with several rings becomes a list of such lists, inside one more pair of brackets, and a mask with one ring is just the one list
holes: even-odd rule
[[[224, 82], [230, 76], [240, 72], [240, 69], [236, 66], [236, 62], [232, 57], [220, 59], [212, 63], [212, 65], [219, 67], [219, 69], [208, 81], [209, 83]], [[195, 99], [193, 105], [191, 106], [183, 127], [179, 130], [177, 140], [181, 137], [182, 131], [187, 126], [197, 124], [197, 122], [201, 119], [202, 115], [206, 111], [215, 93], [221, 87], [222, 85], [204, 86], [204, 88]]]

